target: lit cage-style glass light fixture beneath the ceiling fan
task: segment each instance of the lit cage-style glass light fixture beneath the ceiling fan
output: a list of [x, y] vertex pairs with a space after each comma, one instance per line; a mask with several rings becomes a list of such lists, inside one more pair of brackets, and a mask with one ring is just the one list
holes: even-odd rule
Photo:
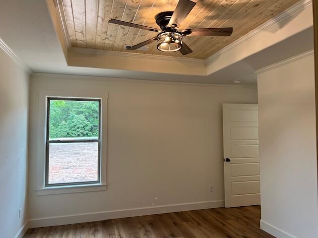
[[157, 36], [157, 49], [163, 52], [175, 52], [182, 48], [182, 34], [162, 32]]

